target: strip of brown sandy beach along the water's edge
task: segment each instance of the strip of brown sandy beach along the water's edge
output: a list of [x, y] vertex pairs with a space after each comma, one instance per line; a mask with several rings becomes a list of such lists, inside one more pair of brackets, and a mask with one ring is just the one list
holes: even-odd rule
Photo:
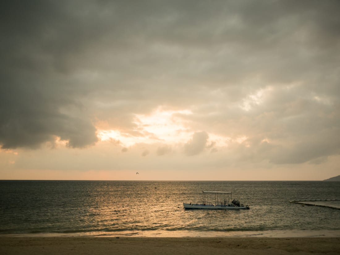
[[340, 254], [340, 238], [0, 237], [1, 255]]

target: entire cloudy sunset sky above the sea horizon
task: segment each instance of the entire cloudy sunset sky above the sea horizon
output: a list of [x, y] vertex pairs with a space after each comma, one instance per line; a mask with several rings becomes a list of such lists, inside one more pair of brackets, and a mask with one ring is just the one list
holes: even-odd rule
[[0, 179], [337, 176], [339, 11], [1, 1]]

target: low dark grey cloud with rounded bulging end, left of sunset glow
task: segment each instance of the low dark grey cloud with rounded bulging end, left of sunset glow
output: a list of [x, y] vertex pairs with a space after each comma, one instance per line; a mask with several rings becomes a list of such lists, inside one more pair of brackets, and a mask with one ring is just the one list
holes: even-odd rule
[[[25, 81], [27, 82], [27, 81]], [[0, 145], [3, 149], [38, 148], [41, 143], [66, 140], [70, 148], [94, 145], [98, 138], [90, 119], [58, 111], [58, 103], [40, 90], [1, 86]], [[60, 107], [60, 104], [59, 104]]]

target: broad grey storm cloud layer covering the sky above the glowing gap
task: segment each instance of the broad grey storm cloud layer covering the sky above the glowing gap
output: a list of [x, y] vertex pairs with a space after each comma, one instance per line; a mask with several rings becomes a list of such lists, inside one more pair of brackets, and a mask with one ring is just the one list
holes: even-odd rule
[[[0, 12], [2, 148], [92, 145], [97, 120], [133, 134], [134, 114], [158, 105], [192, 109], [200, 130], [275, 140], [277, 163], [339, 131], [339, 1], [3, 1]], [[267, 87], [263, 104], [237, 107]], [[194, 140], [188, 155], [204, 148]]]

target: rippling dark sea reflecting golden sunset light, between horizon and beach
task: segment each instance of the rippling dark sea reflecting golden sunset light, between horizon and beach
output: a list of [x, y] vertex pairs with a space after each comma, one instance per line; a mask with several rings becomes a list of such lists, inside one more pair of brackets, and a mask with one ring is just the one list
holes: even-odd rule
[[[184, 209], [229, 191], [249, 210]], [[339, 237], [340, 182], [0, 181], [0, 235]]]

